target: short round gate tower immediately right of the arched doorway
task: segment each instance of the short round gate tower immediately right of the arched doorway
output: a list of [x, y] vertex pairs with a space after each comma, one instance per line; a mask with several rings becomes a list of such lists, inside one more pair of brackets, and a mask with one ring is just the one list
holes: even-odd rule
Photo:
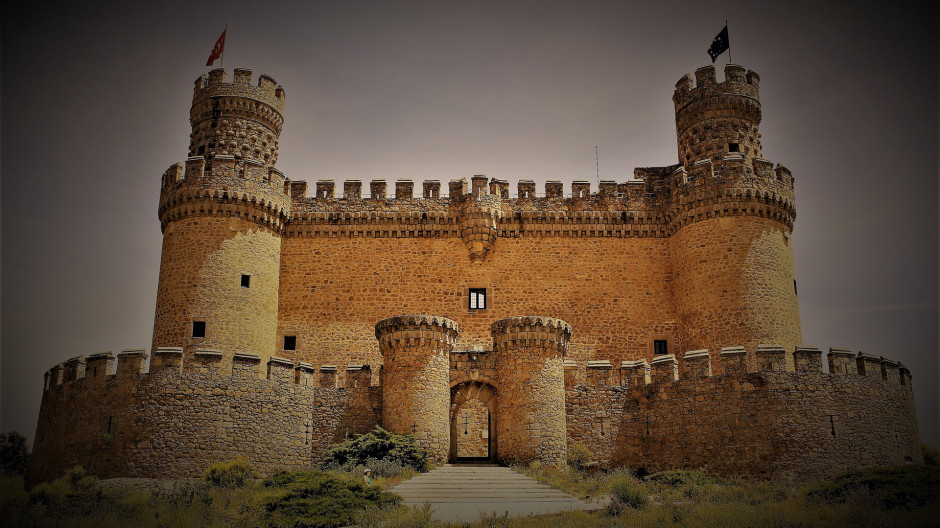
[[571, 326], [550, 317], [508, 317], [492, 324], [499, 379], [497, 452], [502, 460], [568, 458], [564, 358]]

